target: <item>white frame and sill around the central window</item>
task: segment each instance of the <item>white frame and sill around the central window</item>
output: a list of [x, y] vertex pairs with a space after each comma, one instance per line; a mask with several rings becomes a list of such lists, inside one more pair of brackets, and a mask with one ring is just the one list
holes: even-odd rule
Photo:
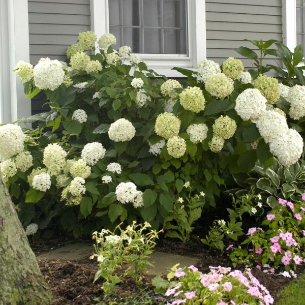
[[[189, 55], [138, 54], [147, 66], [167, 77], [184, 77], [171, 70], [173, 67], [194, 69], [196, 63], [206, 59], [205, 0], [187, 0]], [[98, 37], [109, 33], [108, 0], [90, 0], [91, 25]]]

